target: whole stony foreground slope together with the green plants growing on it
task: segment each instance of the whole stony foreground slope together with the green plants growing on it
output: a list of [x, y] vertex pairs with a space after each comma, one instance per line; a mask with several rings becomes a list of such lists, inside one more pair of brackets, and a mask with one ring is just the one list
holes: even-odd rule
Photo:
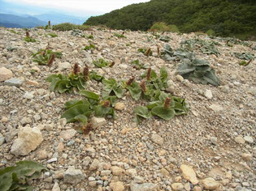
[[[47, 172], [28, 181], [37, 191], [255, 190], [254, 41], [98, 27], [29, 35], [37, 41], [0, 28], [0, 170], [41, 163]], [[219, 86], [178, 74], [191, 59]], [[4, 173], [0, 190], [18, 181]]]

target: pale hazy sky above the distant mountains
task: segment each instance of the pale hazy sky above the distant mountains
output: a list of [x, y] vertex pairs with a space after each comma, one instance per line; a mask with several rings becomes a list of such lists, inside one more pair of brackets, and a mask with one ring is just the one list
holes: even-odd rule
[[[5, 2], [13, 6], [31, 6], [37, 7], [37, 9], [50, 8], [54, 11], [67, 11], [67, 13], [73, 13], [74, 15], [102, 15], [132, 3], [149, 1], [150, 0], [1, 0], [0, 6], [2, 2]], [[10, 8], [11, 6], [9, 6], [9, 9]], [[29, 14], [36, 14], [32, 13], [32, 11], [33, 9], [30, 10]]]

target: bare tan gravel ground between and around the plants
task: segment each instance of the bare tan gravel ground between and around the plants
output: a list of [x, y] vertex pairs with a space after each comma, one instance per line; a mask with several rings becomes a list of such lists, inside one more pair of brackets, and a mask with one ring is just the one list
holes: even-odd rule
[[[0, 82], [1, 168], [24, 159], [42, 163], [49, 172], [33, 180], [36, 190], [256, 190], [256, 60], [239, 66], [240, 60], [233, 55], [256, 55], [255, 50], [245, 45], [230, 47], [221, 38], [165, 33], [173, 49], [195, 37], [219, 42], [219, 57], [194, 50], [215, 69], [221, 86], [213, 87], [177, 77], [179, 62], [159, 58], [157, 47], [162, 49], [164, 42], [149, 41], [150, 33], [124, 32], [126, 38], [118, 38], [114, 34], [122, 31], [93, 28], [82, 32], [85, 36], [93, 32], [94, 39], [89, 40], [72, 32], [54, 32], [58, 36], [53, 38], [47, 36], [50, 30], [32, 28], [30, 36], [37, 42], [28, 43], [23, 40], [24, 30], [13, 30], [20, 34], [0, 28], [0, 68], [5, 67], [0, 79], [5, 78], [2, 75], [16, 80], [15, 84], [6, 79]], [[81, 50], [90, 41], [97, 49]], [[249, 44], [255, 46], [255, 42]], [[47, 45], [63, 57], [56, 58], [51, 67], [39, 66], [31, 54]], [[138, 53], [140, 48], [151, 48], [153, 56]], [[92, 62], [98, 58], [114, 61], [115, 66], [94, 68]], [[157, 73], [162, 66], [167, 68], [171, 92], [189, 103], [189, 115], [134, 123], [133, 109], [145, 101], [132, 100], [126, 93], [118, 100], [123, 107], [116, 109], [117, 120], [106, 118], [100, 124], [96, 118], [99, 126], [89, 135], [77, 133], [73, 130], [77, 123], [67, 124], [60, 118], [63, 104], [81, 96], [76, 91], [50, 92], [47, 76], [69, 74], [78, 63], [106, 78], [135, 76], [139, 81], [144, 70], [130, 64], [136, 59]], [[102, 84], [89, 82], [89, 90], [100, 93]], [[11, 149], [23, 127], [39, 129], [43, 141], [27, 155], [14, 154]]]

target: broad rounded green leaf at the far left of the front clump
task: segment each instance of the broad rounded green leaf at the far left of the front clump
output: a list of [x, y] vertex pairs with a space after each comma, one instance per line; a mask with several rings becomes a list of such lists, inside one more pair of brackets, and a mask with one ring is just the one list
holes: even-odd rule
[[75, 117], [89, 112], [89, 105], [88, 104], [76, 104], [72, 108], [67, 109], [63, 112], [62, 118], [67, 119], [67, 123], [76, 121]]

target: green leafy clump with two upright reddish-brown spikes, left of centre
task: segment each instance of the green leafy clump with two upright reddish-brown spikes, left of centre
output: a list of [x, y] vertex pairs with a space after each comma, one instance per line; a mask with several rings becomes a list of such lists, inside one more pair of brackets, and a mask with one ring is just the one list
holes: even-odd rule
[[84, 90], [87, 87], [86, 81], [89, 80], [89, 68], [85, 66], [84, 70], [80, 72], [80, 67], [75, 64], [72, 73], [52, 74], [46, 81], [50, 83], [50, 91], [59, 91], [59, 93], [72, 92], [76, 87], [78, 90]]

